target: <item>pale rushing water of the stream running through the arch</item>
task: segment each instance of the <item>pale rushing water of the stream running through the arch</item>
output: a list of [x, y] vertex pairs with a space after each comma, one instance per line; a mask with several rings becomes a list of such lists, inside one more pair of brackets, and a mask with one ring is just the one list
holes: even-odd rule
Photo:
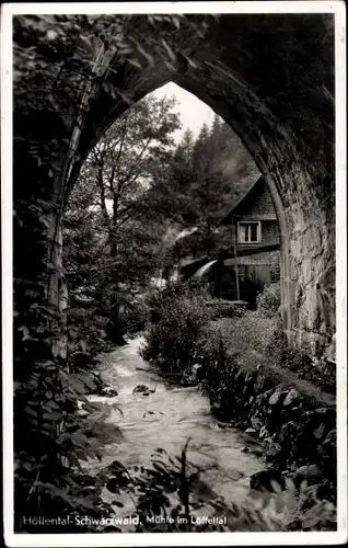
[[[115, 459], [127, 468], [148, 465], [159, 447], [179, 456], [190, 438], [187, 460], [202, 470], [202, 479], [227, 501], [243, 500], [250, 491], [248, 477], [263, 468], [259, 458], [241, 450], [248, 443], [246, 435], [214, 419], [209, 400], [196, 387], [173, 387], [159, 376], [139, 355], [141, 342], [134, 339], [103, 356], [102, 375], [118, 396], [91, 397], [109, 413], [102, 463], [90, 463], [89, 469]], [[137, 385], [154, 391], [132, 393]]]

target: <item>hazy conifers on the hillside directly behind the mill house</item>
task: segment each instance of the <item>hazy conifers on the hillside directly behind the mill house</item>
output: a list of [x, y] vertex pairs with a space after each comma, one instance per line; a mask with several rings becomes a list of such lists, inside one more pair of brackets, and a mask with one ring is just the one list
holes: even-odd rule
[[196, 139], [186, 130], [169, 176], [155, 189], [158, 199], [163, 202], [165, 194], [164, 203], [175, 204], [169, 215], [184, 229], [173, 246], [174, 258], [232, 251], [231, 229], [221, 220], [257, 176], [241, 140], [218, 116], [211, 127], [201, 126]]

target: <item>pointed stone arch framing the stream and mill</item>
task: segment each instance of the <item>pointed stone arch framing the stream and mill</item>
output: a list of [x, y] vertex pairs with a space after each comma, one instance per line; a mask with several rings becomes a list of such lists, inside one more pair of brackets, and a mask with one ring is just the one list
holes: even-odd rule
[[[139, 21], [130, 21], [129, 32], [132, 24]], [[141, 24], [147, 31], [147, 21]], [[265, 175], [281, 232], [285, 332], [291, 344], [322, 352], [335, 333], [333, 19], [225, 15], [204, 36], [181, 33], [173, 31], [173, 42], [184, 45], [172, 67], [152, 46], [151, 62], [142, 68], [112, 62], [79, 117], [78, 133], [70, 101], [60, 110], [31, 104], [24, 82], [15, 83], [14, 202], [26, 222], [14, 225], [14, 275], [42, 282], [43, 298], [63, 312], [61, 214], [81, 163], [129, 103], [173, 81], [231, 125]], [[15, 41], [22, 41], [21, 22]], [[25, 85], [35, 78], [37, 69], [26, 75]], [[42, 92], [48, 93], [45, 85], [43, 78]], [[69, 93], [71, 105], [79, 102], [81, 90]], [[33, 250], [30, 273], [22, 260], [27, 247]], [[50, 258], [49, 274], [39, 266], [44, 255]]]

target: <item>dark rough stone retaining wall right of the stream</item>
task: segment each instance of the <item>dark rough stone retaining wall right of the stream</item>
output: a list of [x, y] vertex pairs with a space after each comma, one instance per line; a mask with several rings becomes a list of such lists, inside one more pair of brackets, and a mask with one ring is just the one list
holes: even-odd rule
[[336, 408], [329, 395], [313, 396], [282, 386], [269, 372], [231, 363], [229, 380], [210, 391], [212, 412], [242, 427], [263, 446], [265, 466], [279, 471], [315, 467], [323, 496], [336, 492]]

